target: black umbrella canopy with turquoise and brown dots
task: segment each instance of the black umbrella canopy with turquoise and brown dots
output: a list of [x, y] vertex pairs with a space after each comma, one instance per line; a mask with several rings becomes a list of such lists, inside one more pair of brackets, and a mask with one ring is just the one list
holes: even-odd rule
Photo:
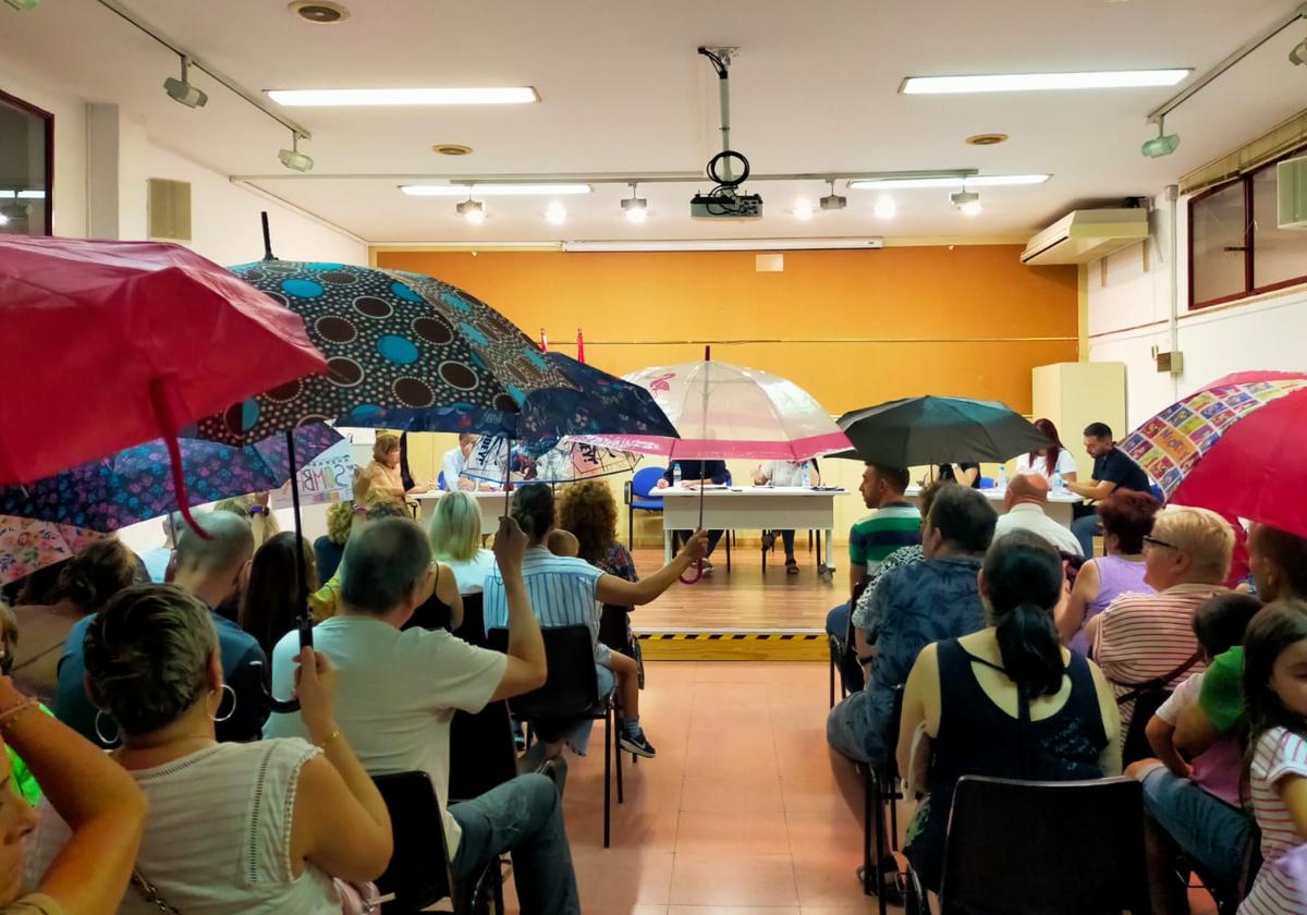
[[301, 315], [328, 375], [230, 405], [199, 437], [246, 444], [289, 426], [491, 429], [527, 393], [567, 387], [511, 322], [474, 297], [417, 273], [263, 260], [233, 273]]

